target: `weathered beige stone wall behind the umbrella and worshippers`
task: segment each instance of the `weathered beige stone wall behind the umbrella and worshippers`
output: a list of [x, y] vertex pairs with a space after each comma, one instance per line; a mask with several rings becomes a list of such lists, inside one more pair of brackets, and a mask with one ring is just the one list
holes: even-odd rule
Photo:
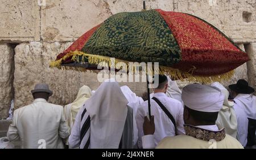
[[[251, 61], [237, 68], [234, 77], [224, 85], [236, 83], [241, 78], [255, 85], [255, 0], [147, 0], [146, 7], [199, 16], [227, 34], [242, 50], [246, 46], [246, 51], [250, 50]], [[96, 73], [51, 69], [50, 60], [82, 33], [109, 16], [141, 10], [142, 0], [2, 0], [0, 119], [6, 118], [13, 98], [15, 108], [31, 103], [30, 90], [39, 82], [49, 84], [53, 90], [49, 101], [60, 105], [72, 102], [82, 85], [97, 89], [100, 83]], [[180, 87], [188, 84], [177, 83]], [[144, 83], [127, 85], [139, 95], [146, 91]]]

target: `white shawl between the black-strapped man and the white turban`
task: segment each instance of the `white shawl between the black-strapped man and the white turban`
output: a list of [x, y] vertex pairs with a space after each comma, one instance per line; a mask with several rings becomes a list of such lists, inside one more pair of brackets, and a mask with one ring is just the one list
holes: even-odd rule
[[168, 88], [166, 91], [166, 95], [170, 98], [174, 98], [175, 100], [180, 101], [184, 106], [184, 103], [181, 100], [181, 90], [177, 86], [176, 81], [172, 81], [169, 76], [167, 76], [167, 79], [168, 79]]

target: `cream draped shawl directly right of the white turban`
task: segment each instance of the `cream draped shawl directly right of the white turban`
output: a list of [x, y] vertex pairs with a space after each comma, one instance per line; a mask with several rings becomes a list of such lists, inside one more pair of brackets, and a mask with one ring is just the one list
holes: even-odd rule
[[218, 82], [212, 84], [212, 86], [217, 87], [225, 95], [224, 103], [222, 109], [218, 112], [217, 124], [220, 124], [225, 128], [226, 134], [237, 138], [237, 117], [233, 109], [234, 102], [228, 101], [229, 92]]

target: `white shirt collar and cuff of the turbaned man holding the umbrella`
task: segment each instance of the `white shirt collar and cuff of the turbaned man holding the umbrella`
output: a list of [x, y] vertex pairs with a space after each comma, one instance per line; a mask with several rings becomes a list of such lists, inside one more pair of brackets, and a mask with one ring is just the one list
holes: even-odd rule
[[[195, 126], [197, 128], [206, 129], [209, 131], [219, 131], [217, 125], [209, 125], [209, 126]], [[155, 148], [154, 144], [154, 135], [146, 135], [142, 137], [142, 144], [144, 149]]]

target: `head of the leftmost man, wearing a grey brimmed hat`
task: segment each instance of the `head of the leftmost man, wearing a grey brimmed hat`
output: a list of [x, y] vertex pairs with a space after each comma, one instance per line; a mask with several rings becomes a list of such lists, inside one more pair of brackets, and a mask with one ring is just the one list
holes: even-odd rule
[[49, 90], [48, 85], [44, 83], [36, 84], [34, 90], [31, 90], [31, 93], [34, 99], [43, 98], [46, 101], [52, 96], [52, 91]]

